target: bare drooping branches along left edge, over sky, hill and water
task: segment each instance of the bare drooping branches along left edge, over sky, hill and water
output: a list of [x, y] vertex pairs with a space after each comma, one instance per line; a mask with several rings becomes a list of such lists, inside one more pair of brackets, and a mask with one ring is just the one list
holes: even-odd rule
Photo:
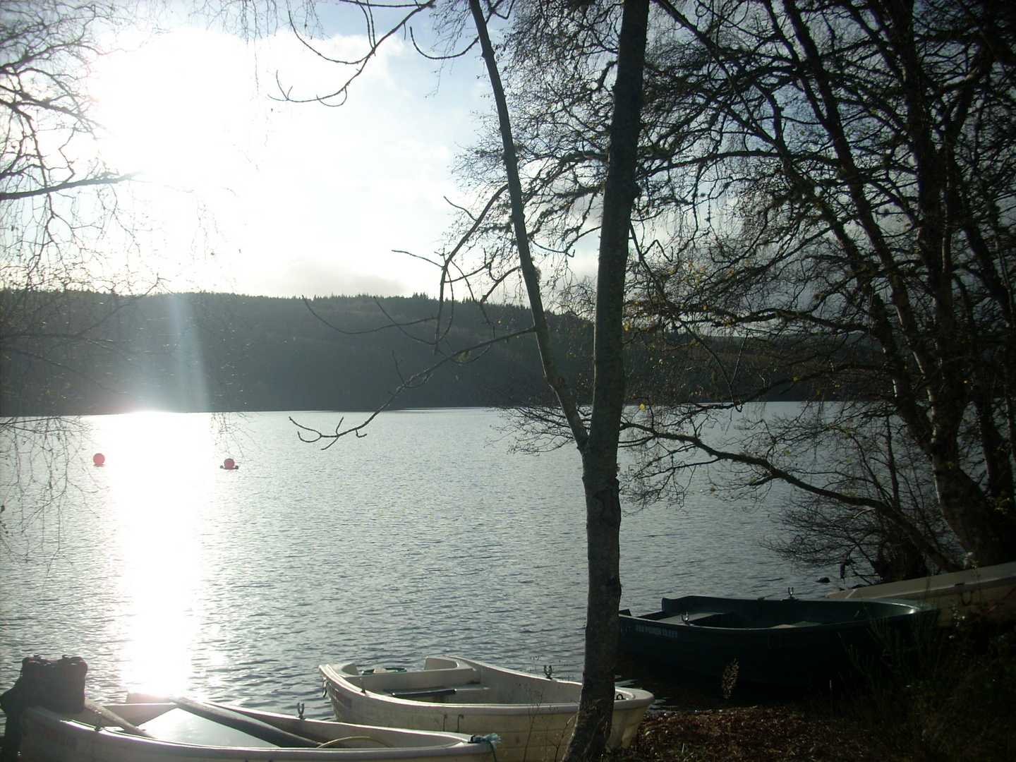
[[[61, 314], [75, 290], [114, 292], [125, 281], [104, 261], [103, 239], [129, 230], [116, 188], [129, 176], [106, 167], [96, 144], [86, 79], [99, 40], [127, 19], [112, 2], [9, 0], [0, 5], [0, 363], [3, 392], [68, 366], [71, 345], [108, 350], [98, 329], [123, 306]], [[122, 239], [130, 244], [128, 236]], [[12, 366], [22, 372], [14, 373]], [[93, 379], [100, 381], [99, 379]], [[65, 460], [81, 424], [0, 410], [0, 448], [9, 467], [0, 490], [13, 499], [4, 532], [45, 515], [68, 489]], [[0, 539], [6, 541], [4, 533]]]

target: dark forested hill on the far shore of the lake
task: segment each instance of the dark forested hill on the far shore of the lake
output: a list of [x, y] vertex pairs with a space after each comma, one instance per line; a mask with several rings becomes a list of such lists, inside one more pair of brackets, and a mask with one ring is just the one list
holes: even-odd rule
[[[234, 294], [8, 291], [0, 300], [4, 416], [375, 409], [443, 356], [529, 325], [525, 310], [503, 305], [446, 304], [439, 315], [425, 296], [305, 304]], [[562, 370], [581, 398], [591, 373], [591, 326], [567, 315], [551, 319], [563, 337]], [[706, 351], [701, 341], [676, 354], [673, 342], [663, 350], [635, 331], [632, 339], [636, 403], [707, 399], [732, 381], [696, 362]], [[772, 347], [746, 353], [724, 339], [708, 351], [745, 355], [739, 386], [769, 372]], [[809, 391], [777, 383], [765, 398]], [[552, 401], [547, 395], [534, 341], [524, 335], [445, 364], [392, 406], [539, 404]]]

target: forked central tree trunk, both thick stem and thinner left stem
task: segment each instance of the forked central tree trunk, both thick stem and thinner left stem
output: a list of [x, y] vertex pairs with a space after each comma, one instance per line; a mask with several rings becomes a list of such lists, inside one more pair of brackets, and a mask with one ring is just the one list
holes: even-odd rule
[[631, 210], [638, 192], [636, 161], [641, 124], [642, 77], [649, 15], [648, 0], [625, 0], [614, 85], [614, 114], [596, 278], [592, 411], [586, 431], [571, 392], [556, 371], [544, 319], [539, 281], [529, 254], [518, 160], [507, 101], [501, 84], [487, 19], [479, 0], [469, 0], [498, 109], [504, 164], [511, 196], [512, 225], [529, 297], [544, 373], [558, 396], [582, 455], [586, 507], [588, 593], [582, 695], [565, 762], [598, 760], [607, 748], [614, 709], [614, 678], [621, 602], [618, 439], [625, 403], [625, 274]]

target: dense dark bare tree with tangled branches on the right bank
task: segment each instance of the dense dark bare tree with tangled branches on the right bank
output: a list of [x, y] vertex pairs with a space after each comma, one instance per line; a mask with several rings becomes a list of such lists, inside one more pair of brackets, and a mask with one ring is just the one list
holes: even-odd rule
[[[778, 347], [748, 381], [713, 358], [727, 399], [815, 403], [709, 456], [801, 488], [808, 536], [839, 512], [837, 552], [885, 577], [955, 568], [946, 525], [978, 563], [1016, 558], [1008, 7], [700, 3], [657, 59], [658, 118], [680, 128], [648, 165], [681, 225], [640, 260], [641, 327]], [[689, 411], [633, 427], [655, 443], [641, 475], [673, 444], [703, 451], [677, 434]]]

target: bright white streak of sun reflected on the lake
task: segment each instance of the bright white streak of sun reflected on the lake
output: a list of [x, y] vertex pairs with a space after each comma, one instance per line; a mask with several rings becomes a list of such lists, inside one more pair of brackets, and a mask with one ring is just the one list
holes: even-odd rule
[[216, 473], [208, 416], [113, 416], [96, 432], [121, 566], [125, 688], [184, 692], [201, 629], [202, 520]]

